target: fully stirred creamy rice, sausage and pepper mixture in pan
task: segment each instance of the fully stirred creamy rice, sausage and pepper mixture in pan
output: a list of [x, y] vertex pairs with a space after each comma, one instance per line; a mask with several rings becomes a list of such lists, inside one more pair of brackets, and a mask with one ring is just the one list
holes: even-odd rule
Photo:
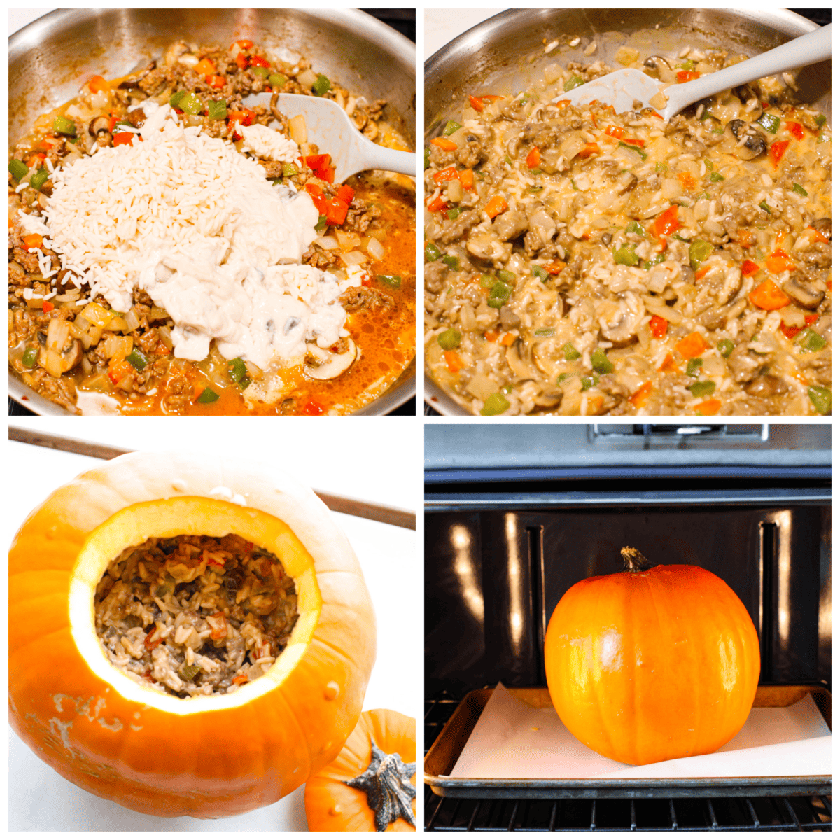
[[[680, 83], [743, 57], [617, 59]], [[476, 92], [431, 140], [429, 375], [486, 416], [829, 413], [826, 118], [790, 77], [667, 124], [562, 101], [608, 71]]]

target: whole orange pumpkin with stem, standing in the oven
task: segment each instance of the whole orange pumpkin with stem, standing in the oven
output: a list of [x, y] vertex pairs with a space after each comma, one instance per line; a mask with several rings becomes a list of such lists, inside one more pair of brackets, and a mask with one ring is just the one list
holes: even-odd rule
[[545, 637], [554, 708], [596, 753], [650, 764], [712, 753], [743, 727], [759, 683], [759, 638], [738, 596], [690, 565], [581, 580]]

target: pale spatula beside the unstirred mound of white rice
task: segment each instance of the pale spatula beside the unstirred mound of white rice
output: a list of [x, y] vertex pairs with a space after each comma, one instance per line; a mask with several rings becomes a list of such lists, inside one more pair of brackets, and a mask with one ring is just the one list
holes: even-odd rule
[[[247, 97], [245, 104], [265, 105], [267, 108], [272, 96], [271, 93], [256, 93]], [[371, 169], [417, 175], [416, 155], [386, 149], [385, 146], [371, 142], [355, 127], [344, 108], [332, 99], [280, 93], [276, 108], [290, 119], [303, 114], [307, 121], [308, 142], [318, 144], [322, 152], [329, 152], [337, 184], [356, 172]]]

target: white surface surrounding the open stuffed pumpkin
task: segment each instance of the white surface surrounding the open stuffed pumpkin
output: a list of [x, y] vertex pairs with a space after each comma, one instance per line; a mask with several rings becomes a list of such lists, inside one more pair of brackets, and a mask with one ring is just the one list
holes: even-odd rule
[[[419, 431], [410, 417], [304, 418], [16, 417], [13, 425], [124, 449], [218, 451], [286, 470], [319, 490], [419, 509]], [[279, 422], [278, 422], [279, 420]], [[333, 421], [338, 420], [339, 423]], [[174, 421], [174, 422], [173, 422]], [[287, 422], [284, 422], [287, 421]], [[302, 422], [301, 422], [302, 421]], [[81, 455], [7, 444], [5, 474], [17, 476], [6, 497], [3, 528], [10, 543], [24, 517], [56, 487], [102, 462]], [[376, 610], [377, 657], [365, 709], [389, 708], [419, 720], [423, 676], [419, 642], [422, 577], [415, 533], [333, 514], [359, 557]], [[303, 788], [243, 816], [198, 820], [129, 811], [71, 785], [9, 733], [10, 831], [295, 831], [306, 830]]]

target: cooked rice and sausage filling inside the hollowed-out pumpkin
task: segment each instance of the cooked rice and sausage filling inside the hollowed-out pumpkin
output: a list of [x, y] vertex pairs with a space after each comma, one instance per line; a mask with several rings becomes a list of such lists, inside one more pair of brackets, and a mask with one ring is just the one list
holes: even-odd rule
[[297, 622], [294, 581], [235, 534], [152, 537], [108, 566], [95, 596], [108, 659], [176, 697], [229, 694], [258, 679]]

